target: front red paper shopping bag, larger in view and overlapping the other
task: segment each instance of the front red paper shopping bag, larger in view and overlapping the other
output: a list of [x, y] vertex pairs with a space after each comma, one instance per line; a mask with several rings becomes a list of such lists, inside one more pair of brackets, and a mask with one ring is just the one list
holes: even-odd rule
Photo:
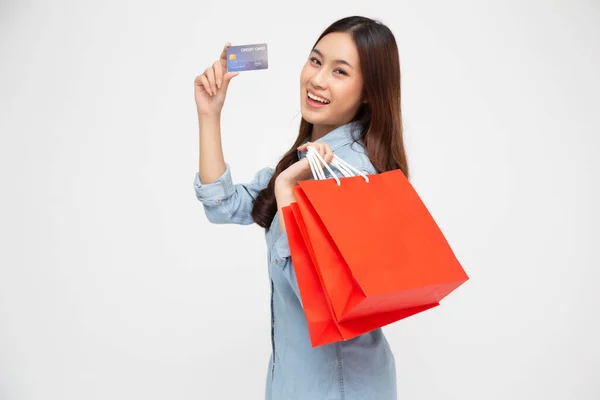
[[[308, 180], [294, 187], [306, 227], [303, 242], [338, 325], [437, 305], [469, 279], [402, 171], [368, 178], [344, 177], [340, 185]], [[314, 290], [305, 293], [316, 296]]]

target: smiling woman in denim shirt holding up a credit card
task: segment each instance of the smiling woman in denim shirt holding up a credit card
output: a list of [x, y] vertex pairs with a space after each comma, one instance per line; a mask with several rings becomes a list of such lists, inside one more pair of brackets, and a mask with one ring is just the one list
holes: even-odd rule
[[394, 356], [381, 329], [312, 348], [281, 212], [295, 201], [292, 187], [312, 178], [309, 145], [327, 163], [335, 153], [366, 174], [401, 169], [408, 176], [395, 38], [385, 25], [364, 17], [329, 26], [300, 75], [296, 142], [276, 168], [258, 171], [248, 184], [232, 183], [221, 149], [220, 113], [237, 75], [226, 72], [228, 46], [195, 80], [200, 162], [194, 187], [211, 222], [266, 229], [273, 346], [266, 399], [396, 399]]

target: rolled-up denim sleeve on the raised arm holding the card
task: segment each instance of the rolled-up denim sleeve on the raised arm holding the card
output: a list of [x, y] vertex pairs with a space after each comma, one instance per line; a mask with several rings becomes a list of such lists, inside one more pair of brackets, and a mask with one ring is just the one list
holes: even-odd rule
[[254, 200], [273, 176], [273, 168], [263, 168], [254, 175], [249, 183], [234, 184], [229, 164], [223, 175], [208, 184], [200, 182], [200, 174], [194, 176], [196, 198], [204, 205], [208, 220], [215, 224], [250, 225], [254, 222], [250, 216]]

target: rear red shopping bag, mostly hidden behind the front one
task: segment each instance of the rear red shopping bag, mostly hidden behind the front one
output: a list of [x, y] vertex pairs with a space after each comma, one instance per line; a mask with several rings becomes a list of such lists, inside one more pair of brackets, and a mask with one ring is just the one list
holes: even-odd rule
[[438, 305], [429, 304], [338, 323], [313, 264], [312, 249], [306, 245], [306, 227], [301, 219], [298, 204], [292, 203], [282, 208], [282, 213], [313, 347], [351, 339]]

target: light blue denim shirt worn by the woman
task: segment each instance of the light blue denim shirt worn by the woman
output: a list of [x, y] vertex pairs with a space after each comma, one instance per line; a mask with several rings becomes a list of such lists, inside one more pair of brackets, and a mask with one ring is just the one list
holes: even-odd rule
[[[358, 125], [340, 126], [316, 142], [356, 169], [377, 171], [358, 137]], [[300, 159], [306, 156], [298, 152]], [[338, 177], [341, 173], [331, 167]], [[266, 187], [273, 168], [263, 168], [246, 184], [234, 184], [229, 164], [215, 182], [201, 184], [194, 177], [196, 197], [209, 221], [252, 224], [254, 199]], [[329, 171], [324, 168], [327, 177]], [[351, 216], [348, 216], [351, 218]], [[277, 214], [265, 233], [271, 281], [271, 343], [266, 385], [267, 400], [396, 400], [394, 356], [381, 329], [356, 338], [313, 348], [290, 256], [287, 234], [280, 232]]]

